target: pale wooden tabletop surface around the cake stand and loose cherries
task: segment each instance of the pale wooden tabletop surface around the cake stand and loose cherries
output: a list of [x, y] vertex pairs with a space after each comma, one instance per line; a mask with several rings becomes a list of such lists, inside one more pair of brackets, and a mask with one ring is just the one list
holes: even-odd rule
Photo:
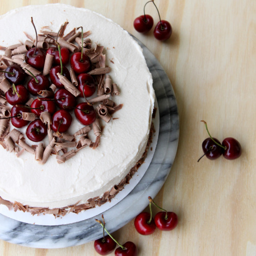
[[[141, 236], [133, 222], [114, 233], [131, 240], [139, 255], [256, 255], [256, 2], [255, 0], [155, 0], [172, 37], [141, 35], [133, 20], [146, 1], [0, 1], [0, 14], [21, 6], [64, 3], [103, 14], [140, 39], [160, 61], [176, 93], [180, 139], [173, 168], [155, 201], [179, 216], [171, 232]], [[158, 22], [157, 11], [146, 12]], [[35, 13], [36, 15], [36, 13]], [[2, 31], [8, 28], [0, 28]], [[222, 141], [237, 138], [242, 156], [234, 161], [206, 158], [207, 133]], [[150, 195], [149, 195], [150, 196]], [[0, 255], [98, 255], [93, 242], [63, 249], [34, 249], [0, 241]], [[112, 253], [111, 255], [114, 255]]]

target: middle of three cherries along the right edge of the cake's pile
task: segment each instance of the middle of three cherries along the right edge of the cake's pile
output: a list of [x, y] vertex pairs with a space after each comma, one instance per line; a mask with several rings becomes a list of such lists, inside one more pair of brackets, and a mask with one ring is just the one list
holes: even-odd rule
[[78, 90], [81, 92], [80, 97], [84, 96], [90, 97], [92, 96], [96, 91], [96, 84], [94, 83], [93, 77], [82, 73], [77, 76], [78, 81]]

